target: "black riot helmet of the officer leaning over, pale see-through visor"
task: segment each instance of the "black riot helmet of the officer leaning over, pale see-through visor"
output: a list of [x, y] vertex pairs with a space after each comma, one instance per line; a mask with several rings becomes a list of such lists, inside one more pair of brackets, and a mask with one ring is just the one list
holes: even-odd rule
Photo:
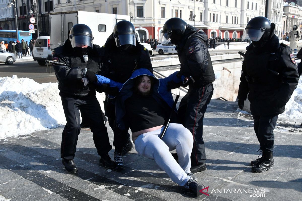
[[171, 42], [176, 45], [177, 42], [181, 41], [182, 37], [185, 35], [186, 28], [187, 23], [184, 20], [178, 17], [173, 17], [167, 20], [164, 24], [158, 42], [167, 44], [171, 40]]

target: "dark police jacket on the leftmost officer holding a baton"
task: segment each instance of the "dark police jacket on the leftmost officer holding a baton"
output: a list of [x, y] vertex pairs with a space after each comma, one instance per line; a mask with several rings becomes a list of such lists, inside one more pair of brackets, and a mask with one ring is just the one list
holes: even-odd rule
[[93, 45], [93, 49], [88, 46], [88, 61], [83, 60], [84, 54], [78, 54], [72, 48], [69, 40], [66, 40], [63, 46], [54, 49], [53, 59], [69, 64], [70, 66], [54, 65], [56, 77], [59, 81], [60, 96], [81, 98], [84, 96], [94, 96], [95, 86], [90, 83], [84, 86], [82, 77], [85, 75], [85, 68], [94, 73], [98, 73], [100, 67], [99, 50], [100, 46]]

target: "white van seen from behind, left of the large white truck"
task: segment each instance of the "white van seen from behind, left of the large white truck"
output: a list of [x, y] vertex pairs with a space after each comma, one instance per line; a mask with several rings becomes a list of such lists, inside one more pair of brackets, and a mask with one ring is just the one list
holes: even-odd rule
[[50, 36], [39, 36], [34, 44], [32, 54], [34, 60], [38, 61], [38, 64], [41, 66], [46, 64], [46, 59], [53, 60], [52, 51], [50, 49]]

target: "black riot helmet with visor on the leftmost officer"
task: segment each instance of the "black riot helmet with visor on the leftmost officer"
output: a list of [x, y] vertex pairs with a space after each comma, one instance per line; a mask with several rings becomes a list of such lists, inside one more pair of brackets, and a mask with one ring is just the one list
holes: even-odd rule
[[69, 32], [69, 40], [73, 48], [78, 46], [90, 46], [93, 48], [92, 31], [86, 24], [73, 25]]

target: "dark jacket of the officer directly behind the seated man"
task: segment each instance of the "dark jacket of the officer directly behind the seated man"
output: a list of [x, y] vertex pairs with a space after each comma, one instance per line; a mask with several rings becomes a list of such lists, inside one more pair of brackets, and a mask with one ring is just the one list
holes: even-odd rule
[[117, 48], [113, 34], [101, 48], [101, 71], [99, 75], [124, 83], [136, 69], [146, 68], [153, 72], [150, 54], [144, 46], [136, 42], [133, 49], [121, 51]]

